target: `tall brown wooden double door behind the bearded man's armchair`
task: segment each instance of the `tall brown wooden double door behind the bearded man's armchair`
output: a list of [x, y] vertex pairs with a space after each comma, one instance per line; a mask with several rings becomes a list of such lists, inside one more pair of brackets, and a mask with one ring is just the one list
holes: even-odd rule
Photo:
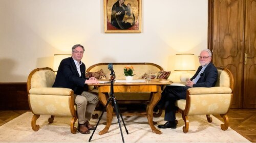
[[[226, 67], [233, 74], [232, 108], [256, 108], [255, 2], [256, 0], [209, 1], [209, 49], [213, 52], [214, 65]], [[246, 65], [245, 53], [248, 57]]]

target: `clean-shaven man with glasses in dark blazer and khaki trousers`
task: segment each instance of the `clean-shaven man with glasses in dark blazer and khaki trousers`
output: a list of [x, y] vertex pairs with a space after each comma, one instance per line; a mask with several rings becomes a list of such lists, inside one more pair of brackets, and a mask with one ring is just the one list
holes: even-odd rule
[[95, 77], [86, 78], [86, 66], [82, 63], [84, 47], [80, 44], [72, 47], [72, 56], [63, 59], [58, 67], [54, 88], [69, 88], [74, 91], [74, 103], [77, 106], [78, 127], [82, 134], [94, 130], [89, 121], [99, 101], [98, 96], [84, 91], [84, 85], [99, 83]]

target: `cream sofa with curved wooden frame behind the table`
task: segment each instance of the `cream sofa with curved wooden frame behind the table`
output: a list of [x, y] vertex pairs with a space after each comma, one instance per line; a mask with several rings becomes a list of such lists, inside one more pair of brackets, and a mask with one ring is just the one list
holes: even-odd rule
[[[109, 63], [98, 63], [90, 66], [86, 70], [86, 76], [94, 76], [97, 79], [110, 79], [111, 71], [108, 69]], [[154, 63], [113, 63], [115, 79], [125, 79], [123, 69], [125, 66], [133, 66], [133, 79], [145, 79], [150, 74], [151, 78], [167, 79], [170, 75], [169, 71]], [[90, 86], [89, 91], [98, 92], [97, 86]], [[115, 92], [115, 91], [114, 91]], [[151, 95], [150, 93], [115, 93], [118, 103], [146, 103]]]

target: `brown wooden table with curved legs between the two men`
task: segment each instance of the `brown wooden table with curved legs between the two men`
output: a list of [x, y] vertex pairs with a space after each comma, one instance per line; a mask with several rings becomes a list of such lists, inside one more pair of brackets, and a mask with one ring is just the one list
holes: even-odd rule
[[[114, 93], [117, 92], [151, 92], [152, 98], [150, 103], [147, 105], [146, 113], [144, 116], [147, 117], [148, 124], [152, 129], [152, 132], [156, 134], [162, 134], [153, 123], [153, 109], [157, 102], [161, 98], [161, 87], [162, 85], [171, 84], [165, 79], [153, 79], [146, 80], [145, 82], [114, 82]], [[99, 83], [99, 84], [88, 84], [88, 85], [97, 85], [99, 90], [99, 100], [103, 105], [106, 105], [108, 100], [108, 93], [110, 92], [110, 83]], [[99, 132], [99, 135], [105, 134], [109, 131], [110, 125], [113, 119], [113, 107], [111, 104], [108, 104], [106, 107], [106, 126], [103, 130]]]

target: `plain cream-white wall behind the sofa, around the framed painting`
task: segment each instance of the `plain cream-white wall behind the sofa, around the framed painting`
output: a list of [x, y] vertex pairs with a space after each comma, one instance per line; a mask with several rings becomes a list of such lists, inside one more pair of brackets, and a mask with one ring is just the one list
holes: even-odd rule
[[203, 0], [142, 0], [140, 34], [105, 34], [103, 0], [1, 0], [0, 20], [0, 82], [26, 82], [31, 70], [52, 67], [53, 54], [69, 54], [74, 44], [86, 48], [87, 67], [151, 62], [170, 71], [176, 53], [207, 48]]

